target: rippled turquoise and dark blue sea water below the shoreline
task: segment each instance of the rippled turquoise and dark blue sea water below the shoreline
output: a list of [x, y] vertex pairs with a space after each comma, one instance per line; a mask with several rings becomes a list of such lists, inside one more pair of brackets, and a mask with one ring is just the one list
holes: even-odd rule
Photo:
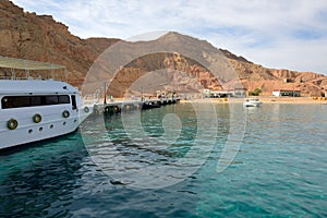
[[[165, 116], [179, 117], [171, 129], [181, 128], [180, 135], [173, 143], [168, 138], [165, 149], [145, 147], [148, 138], [130, 138], [129, 119], [113, 116], [89, 118], [73, 134], [2, 152], [0, 217], [327, 217], [327, 107], [235, 108], [244, 117], [240, 123], [231, 122], [229, 105], [217, 105], [218, 126], [206, 130], [216, 131], [214, 137], [202, 141], [196, 141], [201, 113], [191, 105], [143, 111], [141, 125], [155, 142], [165, 136]], [[241, 147], [218, 173], [229, 131], [238, 124], [244, 124]], [[105, 147], [126, 161], [162, 167], [185, 157], [195, 142], [209, 141], [215, 146], [194, 173], [158, 189], [117, 179], [117, 169], [104, 170], [90, 152]]]

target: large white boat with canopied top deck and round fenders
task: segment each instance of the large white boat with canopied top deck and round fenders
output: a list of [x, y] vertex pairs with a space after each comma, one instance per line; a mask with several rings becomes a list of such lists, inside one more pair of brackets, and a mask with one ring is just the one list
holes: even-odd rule
[[72, 85], [32, 80], [29, 75], [23, 80], [14, 72], [65, 71], [65, 66], [0, 57], [0, 71], [4, 69], [10, 69], [11, 75], [5, 72], [0, 80], [0, 149], [74, 132], [92, 113], [93, 108], [83, 106], [78, 89]]

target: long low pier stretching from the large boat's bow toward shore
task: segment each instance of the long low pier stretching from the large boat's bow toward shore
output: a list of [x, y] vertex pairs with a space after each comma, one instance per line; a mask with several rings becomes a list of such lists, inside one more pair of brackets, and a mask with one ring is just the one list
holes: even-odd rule
[[146, 99], [146, 100], [118, 100], [109, 101], [106, 104], [95, 104], [94, 114], [117, 114], [121, 112], [132, 111], [132, 110], [146, 110], [153, 108], [160, 108], [161, 106], [178, 104], [180, 98], [157, 98], [157, 99]]

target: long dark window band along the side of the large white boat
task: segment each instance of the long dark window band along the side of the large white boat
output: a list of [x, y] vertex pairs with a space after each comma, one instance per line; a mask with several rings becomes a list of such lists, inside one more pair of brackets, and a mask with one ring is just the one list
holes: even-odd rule
[[70, 97], [68, 95], [4, 96], [1, 99], [2, 109], [49, 106], [58, 104], [70, 104]]

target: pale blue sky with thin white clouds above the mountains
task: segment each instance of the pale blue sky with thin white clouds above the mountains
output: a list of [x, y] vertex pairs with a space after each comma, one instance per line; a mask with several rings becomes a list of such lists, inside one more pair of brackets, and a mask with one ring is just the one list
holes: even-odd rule
[[12, 0], [81, 38], [179, 32], [266, 68], [327, 75], [327, 0]]

